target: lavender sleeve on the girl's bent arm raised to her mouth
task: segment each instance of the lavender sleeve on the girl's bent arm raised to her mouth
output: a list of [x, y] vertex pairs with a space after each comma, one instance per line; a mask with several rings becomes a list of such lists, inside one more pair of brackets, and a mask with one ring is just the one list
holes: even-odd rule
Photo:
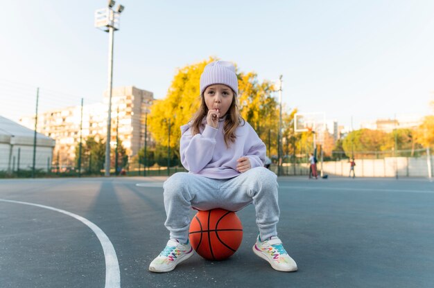
[[186, 170], [198, 173], [212, 159], [218, 129], [206, 125], [202, 134], [192, 136], [193, 129], [189, 125], [184, 125], [181, 127], [181, 132], [181, 163]]

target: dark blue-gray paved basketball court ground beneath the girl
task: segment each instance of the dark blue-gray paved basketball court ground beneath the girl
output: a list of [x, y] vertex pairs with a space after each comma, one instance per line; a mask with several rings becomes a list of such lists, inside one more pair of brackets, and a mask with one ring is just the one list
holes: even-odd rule
[[163, 180], [0, 180], [0, 199], [43, 205], [0, 201], [0, 287], [112, 288], [116, 271], [121, 287], [434, 285], [434, 183], [426, 179], [280, 178], [279, 236], [299, 271], [274, 271], [252, 253], [249, 206], [238, 212], [244, 237], [232, 258], [194, 255], [156, 274], [148, 264], [168, 238]]

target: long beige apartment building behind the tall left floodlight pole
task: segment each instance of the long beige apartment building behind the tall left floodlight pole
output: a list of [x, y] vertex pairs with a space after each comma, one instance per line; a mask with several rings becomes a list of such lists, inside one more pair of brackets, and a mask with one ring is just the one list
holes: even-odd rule
[[[153, 93], [134, 86], [112, 89], [112, 113], [110, 145], [116, 145], [118, 137], [129, 156], [134, 156], [144, 145], [145, 117], [153, 101]], [[107, 137], [108, 92], [103, 102], [83, 105], [83, 142], [88, 136], [97, 140]], [[37, 132], [55, 139], [54, 162], [73, 166], [75, 149], [80, 143], [81, 107], [64, 107], [44, 111], [37, 116]], [[27, 116], [19, 120], [21, 125], [34, 129], [35, 117]]]

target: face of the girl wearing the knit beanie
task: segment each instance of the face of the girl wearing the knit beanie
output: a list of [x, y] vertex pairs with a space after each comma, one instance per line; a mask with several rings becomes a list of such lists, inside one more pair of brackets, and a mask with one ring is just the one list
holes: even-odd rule
[[225, 84], [214, 84], [205, 89], [203, 96], [208, 109], [218, 109], [220, 117], [223, 117], [231, 107], [234, 92]]

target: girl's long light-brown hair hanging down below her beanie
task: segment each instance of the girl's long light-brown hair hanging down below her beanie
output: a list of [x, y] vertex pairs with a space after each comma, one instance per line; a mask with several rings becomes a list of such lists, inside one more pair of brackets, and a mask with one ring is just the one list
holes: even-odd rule
[[[234, 91], [232, 91], [232, 93], [234, 93]], [[202, 122], [203, 119], [207, 117], [209, 111], [207, 104], [205, 103], [205, 96], [203, 95], [203, 93], [200, 95], [200, 98], [200, 107], [196, 114], [193, 116], [193, 124], [191, 125], [191, 127], [193, 128], [193, 136], [200, 133], [200, 127], [205, 127], [204, 123]], [[241, 117], [241, 114], [238, 110], [236, 93], [234, 93], [234, 98], [232, 98], [231, 106], [229, 107], [229, 110], [227, 110], [225, 125], [223, 126], [223, 134], [225, 136], [226, 147], [229, 147], [231, 143], [235, 142], [235, 130], [239, 125], [241, 125], [241, 123], [244, 123], [244, 119], [243, 117]]]

